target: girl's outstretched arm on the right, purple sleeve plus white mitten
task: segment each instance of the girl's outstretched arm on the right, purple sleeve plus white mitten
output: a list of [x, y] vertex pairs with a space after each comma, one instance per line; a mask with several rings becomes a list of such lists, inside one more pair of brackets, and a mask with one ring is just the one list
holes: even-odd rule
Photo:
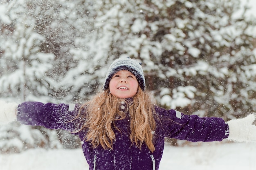
[[[176, 110], [156, 108], [160, 113], [166, 137], [188, 141], [221, 141], [227, 138], [237, 142], [256, 142], [256, 115], [225, 121], [217, 117], [184, 115]], [[177, 114], [178, 113], [178, 114]]]

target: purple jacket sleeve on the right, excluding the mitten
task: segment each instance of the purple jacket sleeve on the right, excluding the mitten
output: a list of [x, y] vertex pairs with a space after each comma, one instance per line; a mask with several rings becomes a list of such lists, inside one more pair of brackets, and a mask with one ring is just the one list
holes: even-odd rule
[[176, 110], [156, 107], [165, 137], [187, 141], [222, 141], [228, 137], [229, 127], [217, 117], [184, 115]]

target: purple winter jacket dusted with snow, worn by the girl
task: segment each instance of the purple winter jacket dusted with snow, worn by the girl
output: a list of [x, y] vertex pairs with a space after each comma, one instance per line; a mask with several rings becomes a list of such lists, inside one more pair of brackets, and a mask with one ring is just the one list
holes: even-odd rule
[[[24, 102], [18, 106], [17, 120], [27, 125], [68, 130], [79, 135], [83, 140], [86, 130], [79, 132], [74, 132], [74, 130], [81, 127], [84, 120], [70, 121], [78, 114], [79, 107], [79, 104]], [[158, 170], [165, 137], [194, 142], [221, 141], [228, 137], [228, 125], [221, 118], [189, 116], [158, 106], [155, 106], [155, 110], [159, 119], [156, 119], [155, 151], [153, 153], [146, 144], [143, 144], [141, 149], [135, 144], [131, 145], [130, 121], [127, 116], [126, 119], [115, 122], [121, 132], [113, 129], [116, 135], [113, 150], [104, 150], [101, 146], [92, 148], [90, 142], [82, 142], [83, 153], [90, 170]]]

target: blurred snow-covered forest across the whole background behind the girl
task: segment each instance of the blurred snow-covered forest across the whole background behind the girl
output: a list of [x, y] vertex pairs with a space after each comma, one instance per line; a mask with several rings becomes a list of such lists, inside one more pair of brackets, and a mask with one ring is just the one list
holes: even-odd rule
[[[0, 99], [84, 102], [113, 60], [142, 63], [160, 106], [185, 114], [256, 111], [256, 17], [239, 0], [1, 0]], [[77, 148], [62, 130], [0, 126], [0, 152]]]

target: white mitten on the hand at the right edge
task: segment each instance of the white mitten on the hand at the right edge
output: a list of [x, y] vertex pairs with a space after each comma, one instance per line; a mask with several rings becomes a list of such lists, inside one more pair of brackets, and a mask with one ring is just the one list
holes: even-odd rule
[[255, 115], [251, 114], [242, 119], [234, 119], [227, 122], [229, 125], [228, 140], [238, 142], [256, 142], [256, 126], [252, 124]]

